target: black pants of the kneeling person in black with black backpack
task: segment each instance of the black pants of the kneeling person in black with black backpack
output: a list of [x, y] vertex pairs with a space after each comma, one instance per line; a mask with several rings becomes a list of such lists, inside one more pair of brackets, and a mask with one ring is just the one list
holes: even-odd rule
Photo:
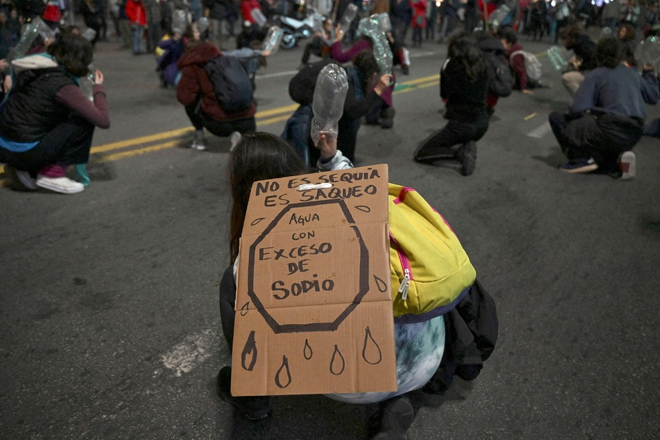
[[478, 115], [472, 120], [450, 119], [443, 129], [436, 131], [419, 144], [415, 150], [415, 159], [423, 160], [427, 157], [452, 155], [452, 146], [480, 140], [487, 129], [488, 118], [485, 111], [483, 111], [483, 115]]

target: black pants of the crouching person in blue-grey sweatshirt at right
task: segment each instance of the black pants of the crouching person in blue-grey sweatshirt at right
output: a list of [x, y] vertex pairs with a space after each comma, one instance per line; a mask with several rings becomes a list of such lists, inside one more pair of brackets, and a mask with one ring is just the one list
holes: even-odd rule
[[593, 157], [605, 172], [617, 170], [617, 160], [632, 150], [643, 134], [643, 120], [602, 113], [571, 118], [553, 111], [550, 126], [569, 160]]

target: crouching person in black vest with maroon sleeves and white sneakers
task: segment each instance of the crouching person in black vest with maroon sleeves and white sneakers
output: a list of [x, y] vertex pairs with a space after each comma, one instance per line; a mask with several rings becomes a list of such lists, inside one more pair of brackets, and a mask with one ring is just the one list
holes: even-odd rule
[[0, 163], [14, 188], [85, 189], [66, 168], [86, 164], [94, 128], [110, 126], [103, 74], [94, 72], [91, 97], [80, 89], [92, 57], [83, 36], [59, 34], [46, 54], [12, 62], [12, 88], [0, 107]]

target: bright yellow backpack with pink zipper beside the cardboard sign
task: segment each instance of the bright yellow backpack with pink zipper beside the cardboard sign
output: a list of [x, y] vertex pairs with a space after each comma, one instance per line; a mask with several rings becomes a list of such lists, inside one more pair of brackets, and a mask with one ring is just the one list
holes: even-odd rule
[[456, 234], [412, 188], [388, 185], [394, 316], [449, 311], [476, 278]]

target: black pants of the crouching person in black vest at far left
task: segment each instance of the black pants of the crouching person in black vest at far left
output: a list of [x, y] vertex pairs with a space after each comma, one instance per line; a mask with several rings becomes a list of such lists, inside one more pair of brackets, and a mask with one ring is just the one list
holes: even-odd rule
[[76, 116], [58, 124], [22, 153], [0, 147], [0, 162], [35, 175], [47, 165], [87, 164], [94, 125]]

